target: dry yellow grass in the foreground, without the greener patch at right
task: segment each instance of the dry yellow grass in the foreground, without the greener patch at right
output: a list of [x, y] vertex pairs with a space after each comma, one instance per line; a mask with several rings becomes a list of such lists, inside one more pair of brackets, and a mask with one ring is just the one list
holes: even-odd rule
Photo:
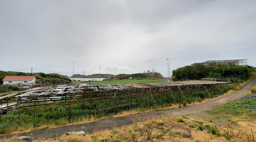
[[[132, 125], [125, 125], [113, 130], [93, 131], [92, 134], [78, 135], [70, 134], [56, 137], [56, 139], [41, 139], [34, 140], [34, 142], [97, 142], [100, 140], [113, 140], [113, 141], [175, 141], [175, 142], [253, 142], [252, 134], [256, 132], [256, 118], [254, 116], [247, 116], [244, 118], [232, 118], [233, 122], [228, 120], [220, 123], [220, 118], [214, 118], [214, 116], [203, 114], [202, 116], [172, 116], [171, 114], [165, 116], [156, 116], [154, 118], [148, 118], [142, 123], [134, 121]], [[184, 119], [185, 123], [177, 122], [178, 119]], [[190, 128], [189, 124], [196, 122], [203, 122], [204, 125], [216, 125], [220, 133], [224, 134], [227, 131], [232, 138], [220, 136], [216, 137], [207, 132], [197, 128]], [[164, 130], [168, 130], [167, 133], [163, 133]], [[123, 138], [123, 139], [122, 139]], [[255, 141], [255, 138], [254, 138]], [[4, 142], [18, 142], [17, 137], [12, 137]], [[21, 142], [21, 141], [19, 141]]]

